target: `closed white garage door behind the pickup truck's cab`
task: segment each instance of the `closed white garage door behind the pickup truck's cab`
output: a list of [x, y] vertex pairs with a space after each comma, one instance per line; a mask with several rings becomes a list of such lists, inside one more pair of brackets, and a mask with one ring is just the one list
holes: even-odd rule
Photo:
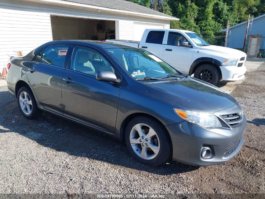
[[140, 23], [140, 22], [134, 22], [133, 24], [133, 40], [134, 41], [140, 41], [142, 38], [142, 35], [146, 29], [162, 29], [164, 28], [163, 24], [152, 24], [152, 23]]

